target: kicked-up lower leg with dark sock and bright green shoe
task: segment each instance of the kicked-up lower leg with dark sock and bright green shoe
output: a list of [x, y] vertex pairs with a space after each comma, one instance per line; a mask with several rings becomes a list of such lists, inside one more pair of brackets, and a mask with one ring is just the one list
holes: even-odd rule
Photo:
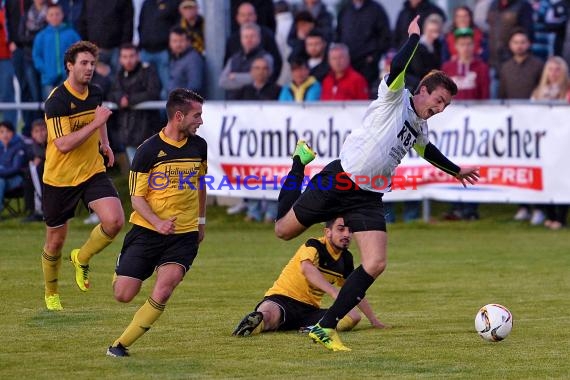
[[297, 142], [295, 152], [293, 152], [293, 165], [287, 174], [283, 187], [279, 192], [277, 206], [277, 219], [281, 219], [293, 207], [295, 201], [301, 195], [301, 185], [305, 176], [305, 165], [313, 161], [315, 152], [303, 140]]

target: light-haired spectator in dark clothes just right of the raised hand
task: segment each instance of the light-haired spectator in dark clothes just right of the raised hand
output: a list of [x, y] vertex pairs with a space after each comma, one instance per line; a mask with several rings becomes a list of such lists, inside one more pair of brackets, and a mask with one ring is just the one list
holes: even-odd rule
[[406, 75], [407, 88], [412, 92], [427, 73], [441, 68], [443, 19], [433, 13], [423, 20], [422, 26], [420, 43]]

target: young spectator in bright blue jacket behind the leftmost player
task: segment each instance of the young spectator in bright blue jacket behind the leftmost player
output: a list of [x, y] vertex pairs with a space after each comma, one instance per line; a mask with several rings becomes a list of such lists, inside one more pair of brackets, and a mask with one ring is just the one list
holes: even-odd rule
[[67, 77], [63, 55], [68, 47], [81, 39], [73, 28], [63, 23], [61, 5], [50, 4], [46, 20], [48, 26], [38, 33], [32, 48], [34, 65], [41, 76], [44, 99]]

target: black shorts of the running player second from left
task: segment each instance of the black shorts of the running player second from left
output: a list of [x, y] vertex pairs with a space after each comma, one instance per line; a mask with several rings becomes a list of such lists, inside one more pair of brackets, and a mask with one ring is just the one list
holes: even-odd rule
[[198, 231], [162, 235], [134, 225], [125, 236], [115, 273], [144, 281], [164, 264], [178, 264], [187, 272], [197, 254]]

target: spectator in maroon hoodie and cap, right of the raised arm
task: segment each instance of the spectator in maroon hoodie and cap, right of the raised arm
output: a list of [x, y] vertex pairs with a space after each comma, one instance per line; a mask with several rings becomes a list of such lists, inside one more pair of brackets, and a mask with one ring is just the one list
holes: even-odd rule
[[489, 66], [475, 56], [473, 30], [456, 29], [454, 35], [457, 55], [445, 62], [441, 69], [457, 84], [455, 99], [489, 99]]

